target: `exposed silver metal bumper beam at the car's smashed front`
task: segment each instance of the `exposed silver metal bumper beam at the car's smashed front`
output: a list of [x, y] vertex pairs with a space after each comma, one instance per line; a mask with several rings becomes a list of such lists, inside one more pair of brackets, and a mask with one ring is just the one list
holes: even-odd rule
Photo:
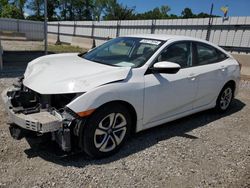
[[48, 111], [41, 111], [27, 115], [23, 113], [15, 113], [11, 104], [11, 98], [7, 96], [8, 91], [14, 90], [14, 88], [9, 88], [2, 92], [2, 99], [11, 123], [18, 125], [25, 130], [38, 133], [55, 132], [62, 128], [62, 117], [56, 111], [54, 111], [53, 114]]

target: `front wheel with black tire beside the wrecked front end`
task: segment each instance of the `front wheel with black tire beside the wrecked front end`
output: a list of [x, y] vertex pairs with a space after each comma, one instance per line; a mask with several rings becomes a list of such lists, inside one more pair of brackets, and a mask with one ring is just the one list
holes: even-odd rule
[[131, 116], [120, 104], [107, 104], [88, 119], [83, 132], [84, 151], [92, 158], [116, 153], [131, 131]]

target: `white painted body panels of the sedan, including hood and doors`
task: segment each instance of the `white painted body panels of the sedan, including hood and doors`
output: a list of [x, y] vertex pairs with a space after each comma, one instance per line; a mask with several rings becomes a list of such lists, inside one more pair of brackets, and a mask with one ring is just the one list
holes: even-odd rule
[[[213, 108], [221, 89], [230, 80], [235, 81], [237, 93], [239, 64], [216, 45], [182, 36], [134, 37], [165, 43], [142, 67], [133, 69], [94, 63], [76, 54], [41, 57], [28, 65], [24, 85], [41, 94], [83, 93], [67, 105], [74, 112], [96, 109], [111, 101], [127, 102], [136, 111], [137, 131]], [[145, 74], [165, 47], [183, 40], [206, 43], [229, 58], [209, 65], [182, 68], [176, 74]]]

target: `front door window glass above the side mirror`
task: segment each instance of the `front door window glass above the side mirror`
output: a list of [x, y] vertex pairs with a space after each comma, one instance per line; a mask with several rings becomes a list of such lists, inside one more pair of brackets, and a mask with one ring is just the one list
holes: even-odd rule
[[190, 42], [178, 42], [168, 46], [158, 56], [157, 61], [169, 61], [177, 63], [181, 68], [189, 67], [192, 64], [192, 50]]

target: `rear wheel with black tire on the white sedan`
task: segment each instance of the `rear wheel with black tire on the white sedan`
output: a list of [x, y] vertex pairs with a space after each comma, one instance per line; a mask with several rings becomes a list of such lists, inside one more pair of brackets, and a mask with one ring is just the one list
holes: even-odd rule
[[216, 101], [216, 107], [215, 109], [217, 112], [223, 113], [228, 110], [230, 107], [230, 104], [234, 98], [234, 87], [231, 84], [226, 84]]

